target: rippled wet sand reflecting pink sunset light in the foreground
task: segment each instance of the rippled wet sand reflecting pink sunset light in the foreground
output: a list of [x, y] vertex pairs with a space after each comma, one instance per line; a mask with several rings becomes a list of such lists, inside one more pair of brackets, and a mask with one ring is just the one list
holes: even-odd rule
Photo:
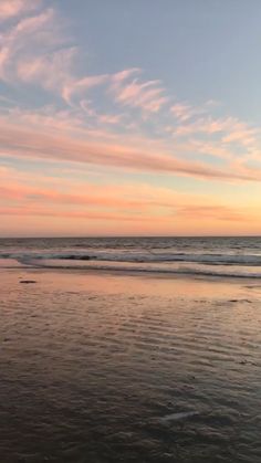
[[0, 461], [259, 463], [260, 296], [251, 281], [0, 270]]

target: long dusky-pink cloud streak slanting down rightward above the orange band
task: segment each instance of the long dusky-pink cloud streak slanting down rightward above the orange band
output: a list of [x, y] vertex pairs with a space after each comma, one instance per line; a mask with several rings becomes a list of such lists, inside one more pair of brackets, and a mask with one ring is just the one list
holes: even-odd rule
[[115, 141], [76, 139], [66, 135], [54, 136], [42, 130], [32, 134], [25, 127], [1, 120], [1, 152], [21, 159], [56, 159], [91, 165], [108, 166], [128, 171], [165, 172], [221, 180], [260, 180], [261, 171], [246, 170], [240, 173], [213, 168], [203, 162], [188, 161], [170, 155], [166, 150], [155, 151], [148, 147], [138, 149], [132, 145]]

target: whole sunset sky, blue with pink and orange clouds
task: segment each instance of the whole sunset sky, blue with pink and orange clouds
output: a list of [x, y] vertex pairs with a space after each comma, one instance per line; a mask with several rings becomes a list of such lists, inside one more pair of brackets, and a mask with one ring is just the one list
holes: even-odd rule
[[0, 0], [0, 236], [261, 234], [260, 0]]

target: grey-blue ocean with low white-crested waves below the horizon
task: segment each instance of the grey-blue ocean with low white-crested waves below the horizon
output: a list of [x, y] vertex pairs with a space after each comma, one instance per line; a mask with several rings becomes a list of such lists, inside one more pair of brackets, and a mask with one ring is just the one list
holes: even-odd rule
[[1, 239], [0, 260], [7, 266], [14, 260], [45, 269], [260, 278], [261, 238]]

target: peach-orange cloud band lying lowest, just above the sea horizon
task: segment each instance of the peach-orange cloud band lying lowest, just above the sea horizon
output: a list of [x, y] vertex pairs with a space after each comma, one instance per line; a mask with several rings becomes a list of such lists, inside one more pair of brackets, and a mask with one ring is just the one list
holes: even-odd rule
[[[20, 178], [19, 178], [20, 177]], [[167, 188], [122, 185], [71, 185], [60, 179], [56, 187], [30, 186], [27, 177], [0, 170], [0, 214], [49, 215], [88, 220], [150, 221], [174, 218], [189, 221], [253, 221], [257, 208], [217, 203], [215, 197], [181, 193]], [[42, 179], [40, 179], [42, 182]], [[106, 191], [106, 194], [104, 193]], [[8, 206], [7, 206], [8, 203]], [[127, 211], [127, 213], [126, 213]]]

